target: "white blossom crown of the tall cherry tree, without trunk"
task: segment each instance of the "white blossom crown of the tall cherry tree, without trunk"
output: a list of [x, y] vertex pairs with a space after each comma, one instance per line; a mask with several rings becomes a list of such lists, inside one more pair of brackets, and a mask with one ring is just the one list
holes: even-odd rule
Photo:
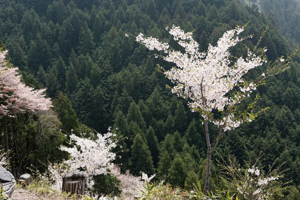
[[[169, 33], [179, 45], [184, 47], [185, 52], [174, 50], [156, 38], [144, 38], [141, 33], [136, 36], [136, 41], [150, 50], [163, 50], [165, 54], [161, 57], [165, 61], [176, 64], [176, 67], [164, 71], [166, 77], [175, 84], [172, 92], [191, 99], [189, 102], [191, 110], [200, 110], [204, 119], [211, 119], [215, 125], [228, 130], [239, 126], [241, 120], [232, 114], [220, 120], [212, 119], [210, 114], [212, 109], [222, 111], [238, 103], [240, 97], [256, 89], [253, 83], [246, 87], [241, 85], [240, 83], [244, 81], [242, 76], [265, 61], [248, 50], [246, 58], [239, 57], [232, 63], [228, 49], [244, 39], [238, 37], [242, 31], [243, 27], [226, 31], [217, 41], [216, 46], [209, 44], [207, 52], [198, 52], [199, 45], [192, 38], [192, 33], [184, 32], [177, 26], [172, 26]], [[235, 86], [239, 86], [242, 92], [234, 97], [228, 96], [228, 92]]]

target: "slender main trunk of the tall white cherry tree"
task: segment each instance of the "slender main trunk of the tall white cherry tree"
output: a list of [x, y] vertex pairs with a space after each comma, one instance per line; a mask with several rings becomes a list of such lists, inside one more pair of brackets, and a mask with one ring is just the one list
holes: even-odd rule
[[208, 122], [207, 120], [204, 121], [204, 131], [205, 131], [205, 138], [207, 144], [207, 155], [206, 155], [206, 176], [205, 176], [205, 185], [204, 185], [204, 194], [207, 195], [209, 191], [209, 177], [210, 177], [210, 163], [211, 163], [211, 146], [208, 134]]

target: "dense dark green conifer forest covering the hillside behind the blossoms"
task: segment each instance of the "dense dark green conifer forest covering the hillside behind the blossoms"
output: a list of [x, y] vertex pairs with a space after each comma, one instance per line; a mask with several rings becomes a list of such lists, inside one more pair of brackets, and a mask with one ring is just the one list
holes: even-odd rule
[[[104, 133], [111, 126], [123, 138], [123, 150], [115, 150], [122, 172], [157, 173], [157, 179], [187, 189], [197, 180], [203, 184], [203, 118], [165, 86], [171, 82], [156, 64], [172, 65], [125, 33], [142, 32], [176, 45], [165, 30], [174, 24], [192, 31], [204, 51], [223, 32], [248, 22], [242, 35], [254, 36], [243, 42], [253, 47], [268, 27], [259, 47], [266, 46], [267, 59], [274, 61], [286, 58], [300, 41], [300, 3], [290, 1], [260, 0], [258, 7], [238, 0], [2, 0], [0, 40], [9, 62], [19, 67], [27, 85], [47, 88], [54, 110], [0, 118], [1, 132], [9, 136], [13, 173], [65, 158], [57, 148], [66, 144], [63, 133]], [[231, 52], [246, 54], [242, 42]], [[284, 181], [291, 180], [300, 197], [299, 63], [295, 56], [288, 70], [253, 92], [260, 95], [257, 109], [267, 110], [226, 131], [212, 157], [212, 189], [224, 187], [216, 160], [223, 163], [231, 155], [243, 165], [262, 152], [258, 165], [265, 170], [276, 158], [278, 164], [286, 162], [281, 168], [290, 169]], [[254, 79], [264, 68], [250, 70], [246, 78]], [[213, 138], [217, 128], [208, 125]], [[297, 199], [285, 194], [284, 199]]]

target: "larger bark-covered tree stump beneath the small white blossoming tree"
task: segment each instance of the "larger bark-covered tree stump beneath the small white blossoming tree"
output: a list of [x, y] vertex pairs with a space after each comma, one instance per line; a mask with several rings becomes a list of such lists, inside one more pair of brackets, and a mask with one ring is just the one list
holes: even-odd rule
[[69, 172], [62, 179], [62, 191], [84, 195], [85, 177], [82, 172]]

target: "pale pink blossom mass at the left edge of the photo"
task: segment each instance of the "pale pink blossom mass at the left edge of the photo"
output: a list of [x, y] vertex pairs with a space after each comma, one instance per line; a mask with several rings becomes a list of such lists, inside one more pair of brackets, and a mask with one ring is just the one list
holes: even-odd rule
[[22, 83], [18, 68], [7, 66], [6, 54], [7, 50], [0, 52], [0, 115], [49, 109], [51, 101], [45, 97], [46, 89], [34, 90]]

